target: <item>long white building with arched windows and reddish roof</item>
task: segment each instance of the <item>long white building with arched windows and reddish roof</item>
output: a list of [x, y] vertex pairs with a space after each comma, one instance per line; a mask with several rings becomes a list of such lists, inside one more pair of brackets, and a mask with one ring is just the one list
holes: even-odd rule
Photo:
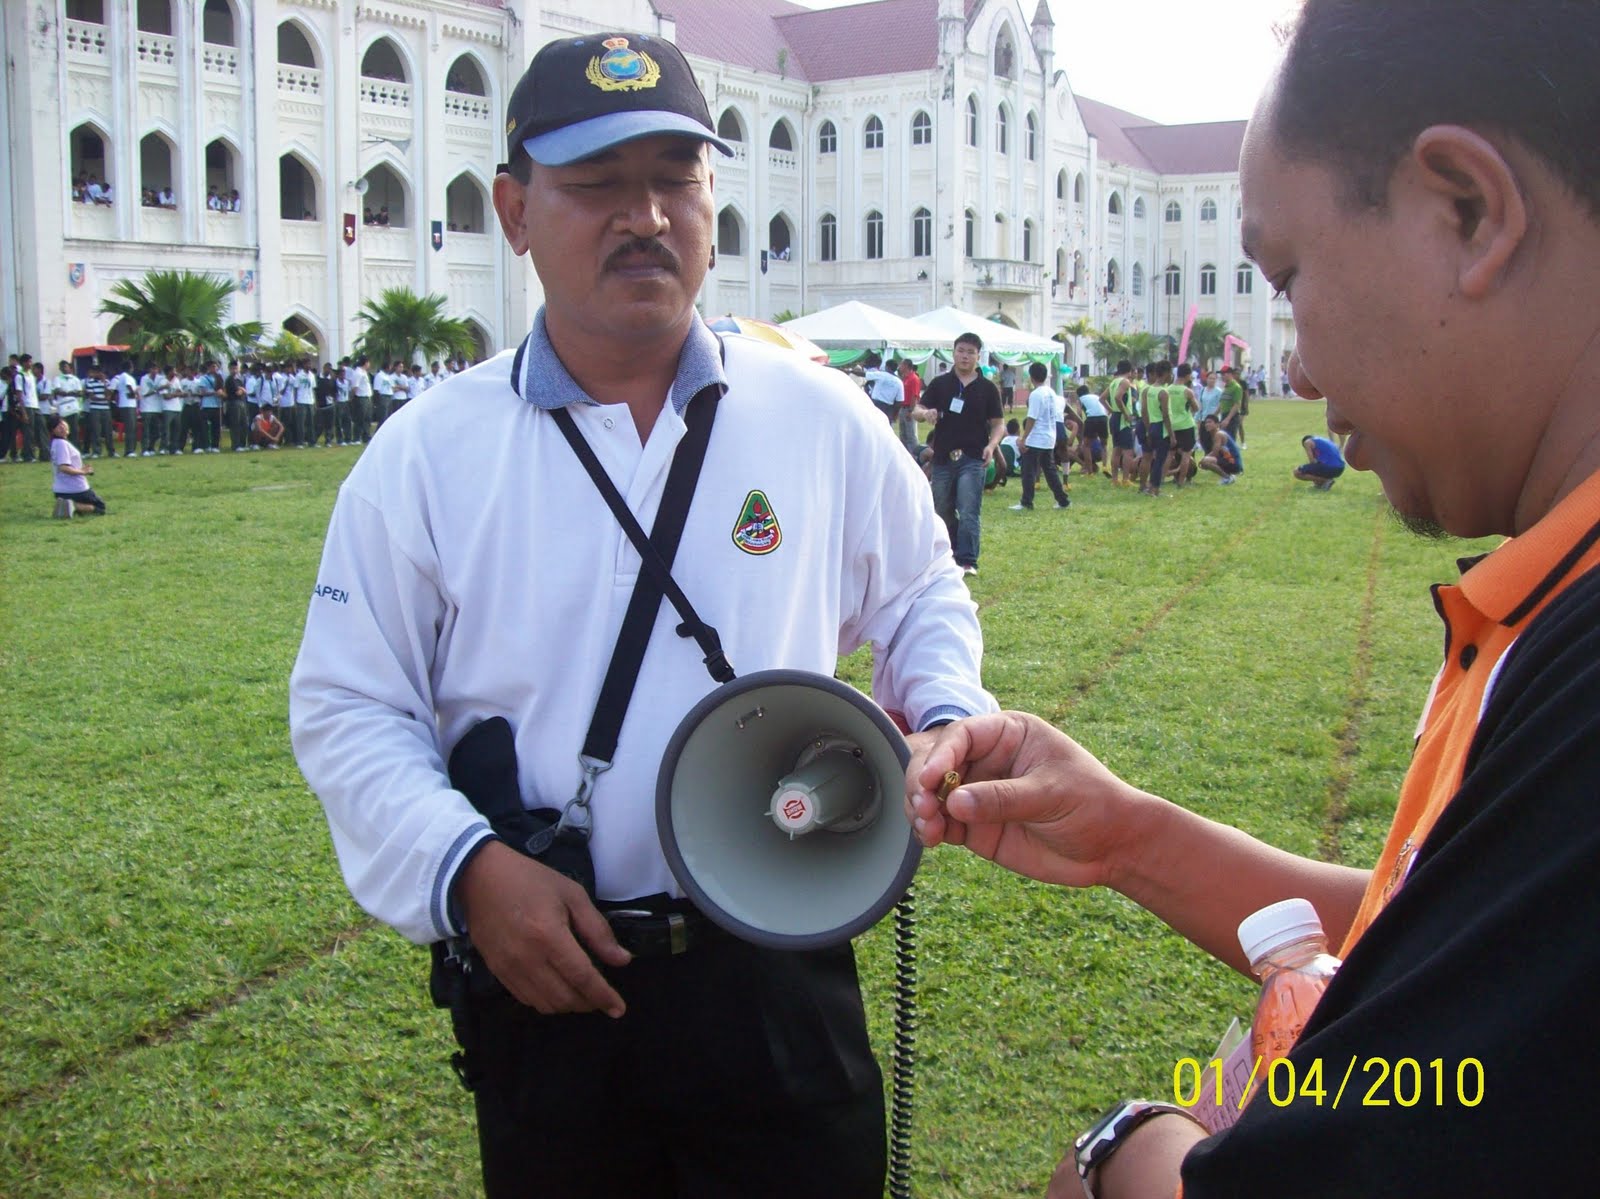
[[[864, 299], [1176, 336], [1197, 309], [1274, 370], [1293, 344], [1238, 248], [1242, 122], [1080, 101], [1045, 0], [6, 3], [0, 341], [117, 341], [101, 299], [158, 267], [234, 279], [237, 320], [323, 357], [389, 287], [515, 343], [539, 288], [490, 203], [506, 96], [544, 42], [602, 29], [678, 42], [738, 150], [707, 314]], [[74, 198], [90, 178], [112, 203]]]

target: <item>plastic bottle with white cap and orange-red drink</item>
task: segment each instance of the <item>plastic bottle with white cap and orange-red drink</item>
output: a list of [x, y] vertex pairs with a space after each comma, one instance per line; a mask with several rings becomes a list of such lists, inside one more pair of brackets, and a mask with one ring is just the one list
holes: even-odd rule
[[1339, 970], [1339, 959], [1328, 952], [1328, 938], [1309, 900], [1283, 900], [1246, 916], [1238, 925], [1238, 944], [1250, 959], [1250, 972], [1261, 980], [1250, 1052], [1261, 1060], [1258, 1077], [1264, 1079], [1272, 1063], [1294, 1049]]

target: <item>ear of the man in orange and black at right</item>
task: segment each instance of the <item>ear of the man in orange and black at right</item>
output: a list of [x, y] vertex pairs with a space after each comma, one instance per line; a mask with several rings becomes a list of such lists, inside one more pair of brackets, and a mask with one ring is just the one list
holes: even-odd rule
[[1422, 186], [1454, 207], [1461, 295], [1483, 299], [1528, 235], [1528, 203], [1517, 171], [1493, 142], [1461, 125], [1422, 130], [1411, 160]]

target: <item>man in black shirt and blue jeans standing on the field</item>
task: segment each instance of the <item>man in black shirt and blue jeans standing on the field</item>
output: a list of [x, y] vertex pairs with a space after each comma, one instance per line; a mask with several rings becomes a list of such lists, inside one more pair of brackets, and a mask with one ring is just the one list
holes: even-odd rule
[[955, 370], [938, 376], [922, 392], [922, 403], [936, 413], [928, 445], [933, 450], [933, 506], [950, 530], [955, 565], [963, 575], [978, 573], [979, 512], [984, 501], [984, 469], [1005, 435], [1000, 391], [978, 373], [984, 343], [976, 333], [955, 339]]

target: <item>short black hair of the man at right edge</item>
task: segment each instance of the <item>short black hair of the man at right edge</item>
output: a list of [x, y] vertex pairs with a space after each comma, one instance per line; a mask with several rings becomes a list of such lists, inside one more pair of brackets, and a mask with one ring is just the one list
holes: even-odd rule
[[1347, 203], [1376, 210], [1422, 130], [1499, 133], [1600, 219], [1597, 61], [1594, 0], [1306, 0], [1272, 133], [1285, 152], [1344, 176]]

